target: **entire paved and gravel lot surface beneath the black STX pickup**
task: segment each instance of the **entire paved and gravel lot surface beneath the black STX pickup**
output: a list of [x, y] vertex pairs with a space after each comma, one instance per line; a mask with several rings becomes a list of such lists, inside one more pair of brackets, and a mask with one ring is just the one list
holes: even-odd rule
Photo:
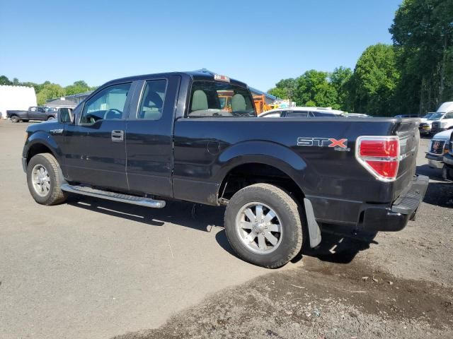
[[426, 165], [428, 139], [416, 221], [323, 234], [264, 270], [231, 254], [222, 208], [38, 206], [20, 164], [27, 125], [0, 121], [0, 338], [453, 338], [453, 186]]

